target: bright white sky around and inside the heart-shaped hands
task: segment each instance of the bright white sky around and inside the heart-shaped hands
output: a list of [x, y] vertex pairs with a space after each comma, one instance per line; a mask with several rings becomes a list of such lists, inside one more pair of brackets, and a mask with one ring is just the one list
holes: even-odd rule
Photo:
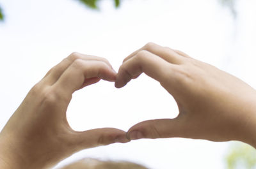
[[[177, 48], [228, 71], [256, 88], [256, 3], [237, 2], [236, 20], [217, 0], [124, 0], [115, 10], [102, 1], [100, 11], [74, 0], [0, 0], [0, 129], [29, 89], [71, 52], [106, 57], [115, 70], [148, 41]], [[142, 75], [122, 89], [99, 82], [77, 91], [68, 107], [72, 128], [129, 129], [147, 119], [172, 118], [172, 96]], [[74, 154], [81, 158], [134, 161], [152, 169], [225, 168], [230, 143], [168, 138], [116, 143]]]

